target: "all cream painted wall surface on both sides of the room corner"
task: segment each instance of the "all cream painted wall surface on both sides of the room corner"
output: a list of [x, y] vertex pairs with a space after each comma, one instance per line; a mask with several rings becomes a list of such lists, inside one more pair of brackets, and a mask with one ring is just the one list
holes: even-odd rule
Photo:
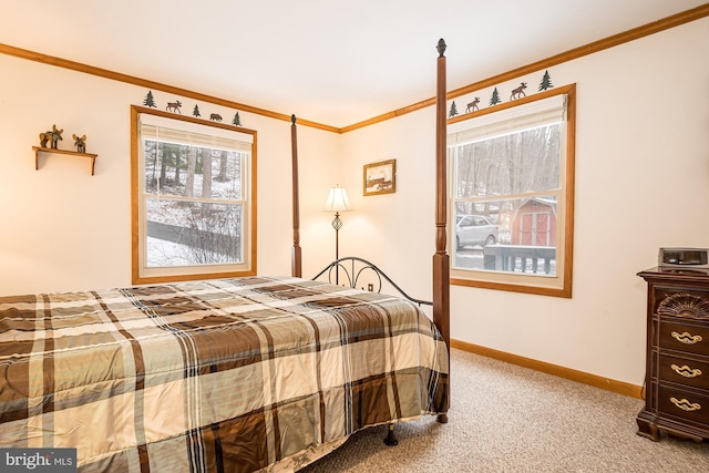
[[[549, 68], [555, 85], [577, 83], [573, 298], [453, 287], [453, 338], [643, 383], [645, 284], [636, 274], [661, 246], [709, 247], [709, 62], [696, 53], [708, 27], [695, 21]], [[467, 60], [449, 54], [449, 69]], [[147, 91], [3, 55], [0, 71], [0, 295], [130, 285], [129, 105]], [[543, 72], [500, 84], [503, 100], [521, 80], [533, 93]], [[475, 94], [485, 104], [491, 92]], [[158, 104], [178, 99], [153, 93]], [[194, 101], [182, 102], [189, 113]], [[456, 99], [459, 110], [465, 103]], [[289, 274], [290, 123], [240, 117], [258, 131], [258, 271]], [[31, 146], [52, 123], [64, 128], [63, 148], [72, 133], [88, 135], [95, 176], [71, 156], [42, 158], [34, 171]], [[298, 140], [304, 275], [333, 256], [332, 215], [321, 208], [339, 183], [354, 206], [342, 215], [340, 255], [369, 258], [430, 298], [434, 110], [345, 135], [300, 126]], [[397, 192], [362, 196], [362, 165], [390, 158]]]

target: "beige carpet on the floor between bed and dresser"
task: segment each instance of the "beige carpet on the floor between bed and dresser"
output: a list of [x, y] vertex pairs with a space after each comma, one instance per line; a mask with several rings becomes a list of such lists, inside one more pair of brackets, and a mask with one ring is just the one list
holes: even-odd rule
[[367, 429], [301, 472], [709, 472], [708, 441], [636, 434], [638, 399], [460, 350], [451, 371], [448, 424], [399, 424], [393, 448]]

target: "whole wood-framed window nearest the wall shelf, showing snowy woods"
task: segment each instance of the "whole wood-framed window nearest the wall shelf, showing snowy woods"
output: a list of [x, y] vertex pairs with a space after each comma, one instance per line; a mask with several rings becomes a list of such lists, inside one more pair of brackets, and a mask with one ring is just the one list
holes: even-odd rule
[[131, 107], [133, 284], [256, 274], [256, 132]]

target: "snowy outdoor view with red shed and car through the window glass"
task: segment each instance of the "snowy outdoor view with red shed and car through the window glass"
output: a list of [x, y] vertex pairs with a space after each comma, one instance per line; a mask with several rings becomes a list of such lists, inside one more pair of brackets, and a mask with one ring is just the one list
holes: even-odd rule
[[[553, 123], [455, 146], [455, 267], [500, 269], [485, 255], [500, 254], [501, 246], [553, 255], [546, 248], [556, 244], [562, 131]], [[554, 261], [544, 264], [553, 275]]]

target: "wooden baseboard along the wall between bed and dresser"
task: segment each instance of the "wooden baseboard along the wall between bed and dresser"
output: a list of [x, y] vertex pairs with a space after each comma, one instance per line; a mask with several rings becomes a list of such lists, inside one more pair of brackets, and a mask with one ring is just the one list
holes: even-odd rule
[[520, 357], [517, 354], [507, 353], [492, 348], [481, 347], [479, 345], [469, 343], [466, 341], [451, 339], [451, 348], [467, 351], [470, 353], [481, 354], [483, 357], [493, 358], [495, 360], [528, 368], [543, 373], [553, 374], [555, 377], [577, 381], [584, 384], [605, 389], [607, 391], [617, 392], [619, 394], [629, 395], [631, 398], [643, 399], [643, 387], [630, 384], [623, 381], [616, 381], [603, 378], [596, 374], [573, 370], [571, 368], [559, 367], [558, 364], [546, 363], [544, 361], [534, 360], [532, 358]]

